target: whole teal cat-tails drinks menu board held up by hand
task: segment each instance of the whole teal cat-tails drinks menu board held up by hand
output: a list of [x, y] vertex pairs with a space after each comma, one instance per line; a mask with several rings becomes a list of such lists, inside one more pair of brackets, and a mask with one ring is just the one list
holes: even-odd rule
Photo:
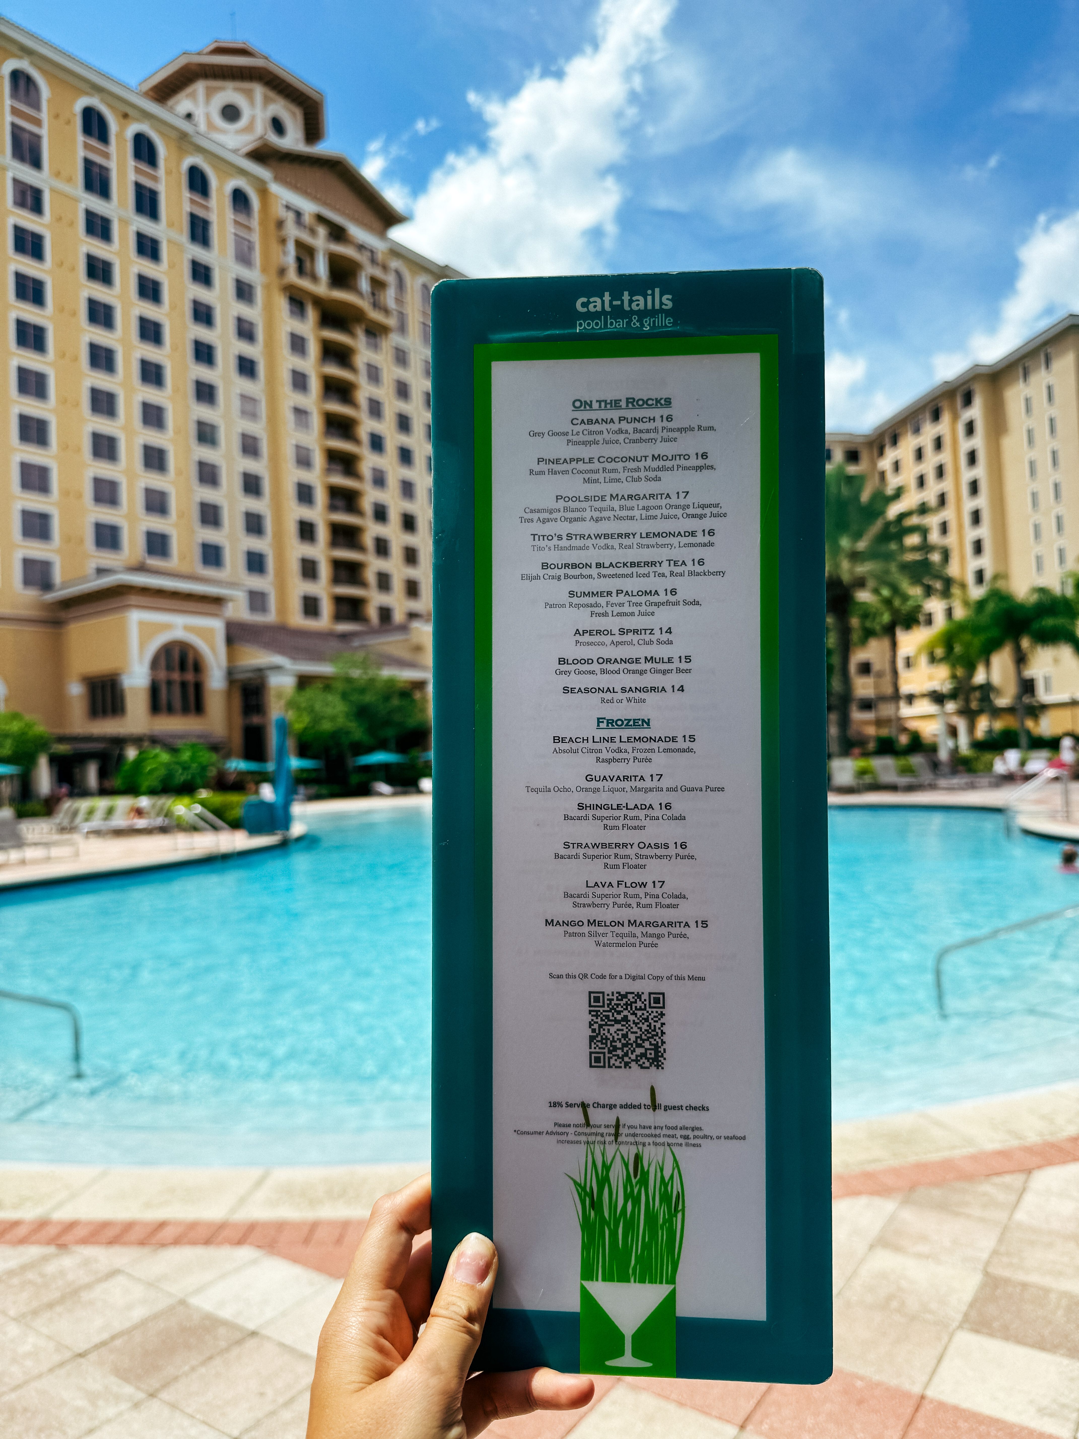
[[482, 1368], [832, 1371], [823, 286], [432, 299], [433, 1282]]

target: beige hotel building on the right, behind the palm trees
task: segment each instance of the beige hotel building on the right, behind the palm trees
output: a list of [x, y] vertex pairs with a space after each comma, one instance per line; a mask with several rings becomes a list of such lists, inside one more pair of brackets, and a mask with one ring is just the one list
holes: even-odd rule
[[[1079, 570], [1079, 315], [1066, 315], [996, 364], [978, 364], [889, 416], [868, 435], [829, 433], [826, 463], [844, 463], [868, 484], [895, 492], [898, 507], [924, 502], [931, 535], [973, 599], [996, 576], [1017, 594], [1062, 589]], [[899, 636], [902, 724], [932, 738], [948, 684], [927, 640], [957, 599], [927, 600], [916, 629]], [[855, 731], [888, 734], [892, 681], [888, 649], [873, 640], [852, 658]], [[1014, 704], [1007, 655], [993, 662], [997, 704]], [[1036, 650], [1024, 675], [1046, 737], [1079, 727], [1079, 656]], [[965, 720], [945, 707], [952, 740], [964, 748]], [[1004, 717], [1000, 722], [1011, 724]]]

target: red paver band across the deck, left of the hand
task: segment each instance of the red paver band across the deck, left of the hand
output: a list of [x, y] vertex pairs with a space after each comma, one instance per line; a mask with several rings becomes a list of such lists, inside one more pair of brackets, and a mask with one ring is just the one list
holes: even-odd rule
[[365, 1219], [7, 1219], [0, 1245], [252, 1245], [342, 1279]]

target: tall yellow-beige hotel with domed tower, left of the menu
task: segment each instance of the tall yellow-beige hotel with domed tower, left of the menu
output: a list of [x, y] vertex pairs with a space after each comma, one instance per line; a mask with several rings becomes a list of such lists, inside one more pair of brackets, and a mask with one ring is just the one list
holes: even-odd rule
[[426, 685], [430, 294], [457, 272], [243, 42], [131, 89], [0, 20], [0, 707], [92, 789], [147, 743], [269, 757], [341, 650]]

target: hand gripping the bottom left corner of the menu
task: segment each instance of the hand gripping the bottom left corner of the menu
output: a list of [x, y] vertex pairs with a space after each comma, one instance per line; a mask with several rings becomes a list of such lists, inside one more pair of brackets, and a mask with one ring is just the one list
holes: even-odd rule
[[495, 1419], [591, 1399], [590, 1379], [552, 1368], [469, 1379], [498, 1253], [483, 1235], [462, 1239], [432, 1304], [430, 1239], [413, 1243], [427, 1229], [430, 1176], [371, 1210], [318, 1340], [308, 1439], [470, 1439]]

